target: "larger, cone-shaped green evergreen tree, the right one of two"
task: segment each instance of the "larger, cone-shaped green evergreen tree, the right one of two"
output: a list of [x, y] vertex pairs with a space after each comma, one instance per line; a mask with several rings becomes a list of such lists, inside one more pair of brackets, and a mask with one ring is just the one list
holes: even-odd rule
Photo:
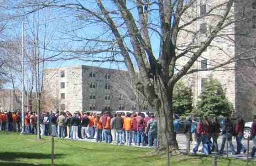
[[232, 113], [232, 104], [226, 99], [225, 90], [219, 81], [211, 76], [204, 82], [199, 99], [197, 104], [199, 116], [227, 116]]

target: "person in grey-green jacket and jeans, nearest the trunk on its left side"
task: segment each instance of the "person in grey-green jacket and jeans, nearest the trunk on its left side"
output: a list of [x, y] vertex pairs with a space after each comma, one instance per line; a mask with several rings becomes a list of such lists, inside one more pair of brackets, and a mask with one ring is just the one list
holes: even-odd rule
[[154, 114], [149, 114], [150, 119], [146, 125], [146, 131], [148, 135], [148, 146], [157, 146], [157, 119], [155, 119]]

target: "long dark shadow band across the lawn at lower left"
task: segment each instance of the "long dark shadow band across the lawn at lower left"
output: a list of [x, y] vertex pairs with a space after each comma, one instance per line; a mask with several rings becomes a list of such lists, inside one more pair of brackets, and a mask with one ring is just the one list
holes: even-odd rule
[[[54, 158], [61, 158], [64, 154], [55, 154]], [[51, 154], [27, 153], [27, 152], [0, 152], [1, 161], [16, 161], [18, 158], [26, 159], [51, 159]]]

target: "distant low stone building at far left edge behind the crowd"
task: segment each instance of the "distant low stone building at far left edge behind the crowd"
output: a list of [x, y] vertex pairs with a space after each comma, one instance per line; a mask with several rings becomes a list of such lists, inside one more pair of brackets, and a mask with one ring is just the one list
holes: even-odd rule
[[[0, 110], [2, 111], [16, 111], [21, 109], [21, 103], [18, 103], [15, 98], [13, 89], [3, 88], [0, 89]], [[20, 98], [20, 95], [17, 95]]]

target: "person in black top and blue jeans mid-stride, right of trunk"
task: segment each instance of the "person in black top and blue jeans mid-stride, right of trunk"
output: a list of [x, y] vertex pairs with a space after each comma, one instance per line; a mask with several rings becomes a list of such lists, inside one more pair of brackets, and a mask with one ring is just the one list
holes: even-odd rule
[[232, 152], [232, 155], [236, 154], [234, 145], [232, 143], [232, 137], [233, 137], [234, 131], [235, 131], [234, 126], [230, 120], [230, 117], [225, 117], [225, 124], [223, 125], [223, 128], [222, 128], [222, 143], [221, 143], [221, 148], [219, 150], [220, 155], [223, 153], [226, 140], [230, 144], [229, 148]]

